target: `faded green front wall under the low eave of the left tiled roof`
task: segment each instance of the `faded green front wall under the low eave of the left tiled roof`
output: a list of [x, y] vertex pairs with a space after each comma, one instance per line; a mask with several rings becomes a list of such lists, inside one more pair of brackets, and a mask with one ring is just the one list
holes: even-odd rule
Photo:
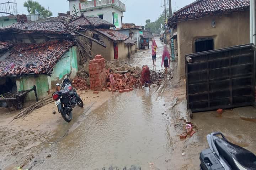
[[[47, 91], [49, 90], [47, 75], [40, 74], [38, 77], [35, 76], [26, 76], [16, 79], [17, 90], [28, 90], [32, 89], [34, 85], [37, 87], [37, 97], [39, 99], [48, 95]], [[34, 91], [31, 91], [26, 100], [36, 100]]]

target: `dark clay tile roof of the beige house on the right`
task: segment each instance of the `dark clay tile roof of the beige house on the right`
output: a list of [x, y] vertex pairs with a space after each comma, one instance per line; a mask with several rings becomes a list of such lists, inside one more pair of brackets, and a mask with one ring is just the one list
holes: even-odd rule
[[[250, 0], [197, 0], [176, 11], [168, 19], [169, 27], [182, 19], [192, 19], [223, 12], [245, 10], [250, 6]], [[248, 9], [249, 10], [249, 9]]]

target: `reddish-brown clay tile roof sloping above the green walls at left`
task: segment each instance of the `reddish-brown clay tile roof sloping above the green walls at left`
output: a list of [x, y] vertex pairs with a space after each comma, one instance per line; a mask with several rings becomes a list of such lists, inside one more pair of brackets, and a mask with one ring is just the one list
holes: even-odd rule
[[68, 40], [40, 44], [15, 44], [0, 58], [0, 77], [9, 75], [47, 74], [74, 43]]

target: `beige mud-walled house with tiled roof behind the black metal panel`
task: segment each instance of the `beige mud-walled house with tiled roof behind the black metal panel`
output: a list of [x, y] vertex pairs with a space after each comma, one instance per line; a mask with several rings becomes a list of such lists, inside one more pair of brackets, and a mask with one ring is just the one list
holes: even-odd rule
[[169, 27], [177, 33], [174, 45], [181, 77], [185, 55], [249, 43], [249, 5], [249, 0], [197, 0], [169, 18]]

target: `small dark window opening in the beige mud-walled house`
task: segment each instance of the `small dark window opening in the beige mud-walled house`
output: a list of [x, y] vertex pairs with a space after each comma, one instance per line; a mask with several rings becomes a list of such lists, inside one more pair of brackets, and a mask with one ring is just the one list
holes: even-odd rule
[[212, 38], [197, 39], [195, 42], [195, 46], [196, 46], [195, 52], [214, 50], [214, 44], [213, 44]]

